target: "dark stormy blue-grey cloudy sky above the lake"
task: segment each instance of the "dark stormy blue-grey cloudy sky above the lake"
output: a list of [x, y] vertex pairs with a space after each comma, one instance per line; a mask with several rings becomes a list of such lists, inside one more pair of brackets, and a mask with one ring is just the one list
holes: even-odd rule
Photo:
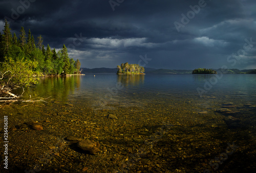
[[2, 0], [5, 18], [86, 68], [256, 68], [253, 0]]

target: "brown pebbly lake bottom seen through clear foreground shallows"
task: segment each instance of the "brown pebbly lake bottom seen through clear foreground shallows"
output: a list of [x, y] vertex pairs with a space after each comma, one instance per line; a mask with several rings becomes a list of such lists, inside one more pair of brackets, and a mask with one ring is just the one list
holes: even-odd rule
[[[0, 105], [9, 132], [8, 170], [2, 159], [1, 172], [256, 170], [253, 102], [227, 103], [215, 96], [200, 102], [149, 96], [101, 106], [75, 97], [46, 101]], [[79, 141], [99, 145], [92, 154], [82, 150]]]

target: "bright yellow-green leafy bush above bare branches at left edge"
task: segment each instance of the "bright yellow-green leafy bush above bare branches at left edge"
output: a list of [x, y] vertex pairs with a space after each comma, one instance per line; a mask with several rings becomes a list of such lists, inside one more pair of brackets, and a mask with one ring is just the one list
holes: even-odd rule
[[0, 64], [0, 77], [3, 77], [0, 80], [0, 84], [10, 88], [26, 87], [36, 84], [38, 81], [36, 77], [38, 76], [38, 72], [34, 71], [36, 67], [36, 61], [25, 59], [15, 61], [12, 58], [8, 58]]

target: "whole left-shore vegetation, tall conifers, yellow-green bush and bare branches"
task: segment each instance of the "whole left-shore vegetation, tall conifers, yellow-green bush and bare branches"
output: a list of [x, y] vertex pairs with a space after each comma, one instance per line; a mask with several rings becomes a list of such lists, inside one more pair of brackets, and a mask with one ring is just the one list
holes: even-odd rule
[[35, 41], [30, 30], [26, 36], [23, 27], [18, 38], [5, 20], [3, 34], [0, 32], [0, 102], [19, 101], [22, 95], [11, 91], [37, 84], [39, 77], [80, 74], [80, 65], [78, 59], [69, 58], [65, 44], [58, 52], [49, 44], [45, 48], [41, 35]]

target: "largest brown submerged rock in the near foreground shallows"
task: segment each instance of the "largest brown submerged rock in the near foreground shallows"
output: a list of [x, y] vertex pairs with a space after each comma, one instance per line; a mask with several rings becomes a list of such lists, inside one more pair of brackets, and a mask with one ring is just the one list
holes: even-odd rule
[[96, 154], [99, 152], [99, 142], [94, 142], [90, 140], [83, 140], [77, 143], [77, 146], [82, 149], [83, 151], [89, 152], [91, 154]]

